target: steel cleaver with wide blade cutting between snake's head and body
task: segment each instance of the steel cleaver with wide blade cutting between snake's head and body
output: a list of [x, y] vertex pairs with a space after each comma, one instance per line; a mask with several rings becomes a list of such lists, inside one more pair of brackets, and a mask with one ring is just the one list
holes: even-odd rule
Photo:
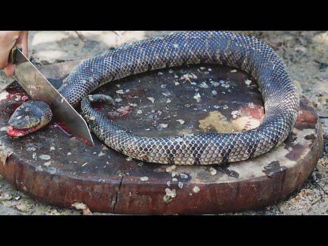
[[8, 62], [16, 65], [15, 80], [32, 99], [44, 101], [49, 105], [57, 124], [64, 125], [73, 136], [94, 145], [87, 122], [34, 67], [22, 53], [22, 48], [15, 45], [9, 53]]

